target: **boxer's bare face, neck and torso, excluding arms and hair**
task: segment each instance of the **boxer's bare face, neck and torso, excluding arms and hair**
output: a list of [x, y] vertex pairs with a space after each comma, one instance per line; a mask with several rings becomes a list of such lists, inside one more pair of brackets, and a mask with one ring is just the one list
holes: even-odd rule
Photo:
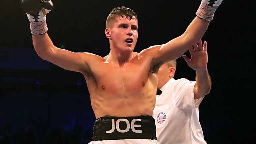
[[[144, 56], [145, 52], [133, 52], [138, 38], [137, 29], [136, 20], [116, 19], [107, 32], [110, 54], [104, 58], [94, 55], [90, 69], [82, 72], [96, 118], [105, 115], [152, 115], [157, 77], [150, 70], [152, 57]], [[127, 43], [127, 38], [132, 38], [133, 42]]]

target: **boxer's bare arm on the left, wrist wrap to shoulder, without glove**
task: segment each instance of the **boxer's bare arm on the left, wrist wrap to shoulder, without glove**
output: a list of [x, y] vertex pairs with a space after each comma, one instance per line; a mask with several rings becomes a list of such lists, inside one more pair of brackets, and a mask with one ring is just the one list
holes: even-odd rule
[[88, 62], [95, 58], [90, 53], [74, 53], [53, 45], [48, 34], [33, 35], [34, 48], [39, 57], [66, 70], [82, 72], [88, 69]]

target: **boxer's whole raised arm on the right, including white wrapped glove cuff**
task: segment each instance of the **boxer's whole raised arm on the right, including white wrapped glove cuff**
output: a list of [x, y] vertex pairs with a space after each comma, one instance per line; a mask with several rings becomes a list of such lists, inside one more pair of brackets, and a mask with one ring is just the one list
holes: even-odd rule
[[[213, 1], [213, 2], [211, 2]], [[166, 63], [177, 59], [184, 54], [188, 48], [203, 37], [206, 32], [209, 21], [213, 19], [213, 14], [222, 0], [202, 0], [202, 3], [196, 12], [197, 17], [190, 23], [186, 31], [179, 37], [163, 44], [157, 50], [154, 50], [153, 65]]]

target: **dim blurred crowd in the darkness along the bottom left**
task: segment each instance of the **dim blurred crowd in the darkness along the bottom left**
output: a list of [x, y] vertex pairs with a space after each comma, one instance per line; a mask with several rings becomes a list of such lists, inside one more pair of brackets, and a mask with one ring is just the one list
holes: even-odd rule
[[22, 128], [0, 124], [0, 144], [88, 144], [91, 138], [92, 130], [85, 130], [79, 121], [57, 128], [42, 123], [28, 123]]

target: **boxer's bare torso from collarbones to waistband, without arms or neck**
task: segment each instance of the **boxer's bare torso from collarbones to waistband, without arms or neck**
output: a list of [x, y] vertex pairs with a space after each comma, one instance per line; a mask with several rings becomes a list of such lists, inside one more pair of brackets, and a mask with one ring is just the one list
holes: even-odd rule
[[105, 115], [152, 115], [157, 74], [150, 71], [151, 61], [133, 52], [130, 62], [123, 66], [99, 58], [91, 67], [92, 73], [83, 73], [97, 118]]

